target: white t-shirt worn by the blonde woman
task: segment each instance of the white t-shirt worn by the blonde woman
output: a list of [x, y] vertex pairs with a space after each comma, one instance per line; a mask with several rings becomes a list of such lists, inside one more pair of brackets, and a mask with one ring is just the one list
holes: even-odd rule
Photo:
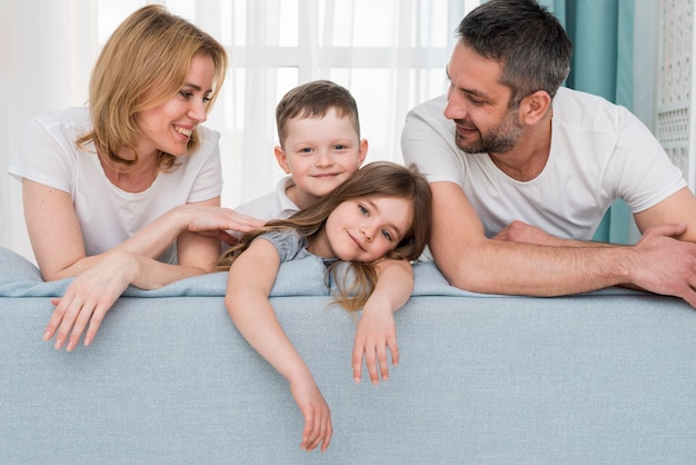
[[[87, 108], [68, 108], [33, 118], [24, 127], [20, 151], [8, 169], [18, 179], [70, 194], [88, 256], [113, 248], [173, 207], [209, 200], [222, 191], [217, 131], [199, 126], [198, 150], [177, 157], [177, 169], [160, 172], [152, 186], [133, 194], [111, 184], [93, 144], [81, 150], [76, 147], [76, 139], [90, 129]], [[160, 260], [176, 261], [173, 244]]]

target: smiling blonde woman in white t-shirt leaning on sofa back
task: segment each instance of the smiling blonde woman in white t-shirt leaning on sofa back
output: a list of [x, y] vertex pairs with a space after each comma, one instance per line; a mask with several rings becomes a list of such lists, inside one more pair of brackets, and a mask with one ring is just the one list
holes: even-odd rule
[[92, 69], [89, 108], [27, 125], [9, 172], [22, 180], [43, 279], [76, 277], [44, 330], [84, 345], [128, 285], [212, 270], [227, 229], [260, 221], [220, 208], [219, 135], [200, 126], [220, 91], [220, 43], [160, 6], [133, 12]]

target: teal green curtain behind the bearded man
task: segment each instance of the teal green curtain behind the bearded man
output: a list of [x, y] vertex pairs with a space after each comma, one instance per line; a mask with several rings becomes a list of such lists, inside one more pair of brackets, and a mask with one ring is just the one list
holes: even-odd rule
[[[539, 0], [566, 28], [574, 44], [566, 86], [595, 93], [632, 110], [635, 0]], [[617, 201], [594, 239], [628, 244], [633, 218]]]

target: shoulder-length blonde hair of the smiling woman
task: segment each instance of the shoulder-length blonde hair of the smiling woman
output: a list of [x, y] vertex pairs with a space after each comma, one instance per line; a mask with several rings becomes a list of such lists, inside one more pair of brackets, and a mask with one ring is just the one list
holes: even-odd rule
[[[93, 141], [97, 150], [113, 162], [133, 165], [140, 131], [138, 113], [155, 108], [181, 88], [193, 57], [210, 57], [215, 65], [213, 89], [206, 111], [212, 108], [225, 75], [227, 52], [211, 36], [190, 22], [149, 4], [130, 14], [103, 46], [92, 69], [89, 108], [92, 130], [76, 140], [83, 148]], [[199, 145], [195, 129], [189, 152]], [[131, 149], [135, 160], [120, 157]], [[160, 169], [175, 166], [175, 156], [160, 154]]]

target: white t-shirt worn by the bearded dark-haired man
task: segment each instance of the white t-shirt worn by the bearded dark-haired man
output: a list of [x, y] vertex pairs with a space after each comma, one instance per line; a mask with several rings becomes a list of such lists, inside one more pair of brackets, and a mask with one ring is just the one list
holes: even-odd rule
[[429, 182], [460, 186], [488, 237], [521, 220], [557, 237], [589, 240], [616, 199], [637, 214], [686, 186], [650, 131], [626, 108], [600, 97], [558, 90], [548, 161], [539, 176], [524, 182], [503, 172], [487, 154], [457, 147], [446, 103], [440, 96], [407, 115], [404, 159]]

